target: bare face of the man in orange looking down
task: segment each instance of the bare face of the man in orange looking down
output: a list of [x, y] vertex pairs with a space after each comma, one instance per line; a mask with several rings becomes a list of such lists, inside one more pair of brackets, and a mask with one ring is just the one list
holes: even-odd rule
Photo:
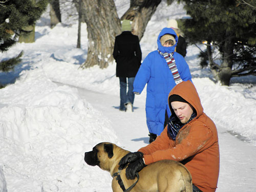
[[174, 113], [180, 119], [181, 123], [186, 123], [193, 114], [193, 110], [188, 103], [173, 101], [170, 105], [172, 105]]

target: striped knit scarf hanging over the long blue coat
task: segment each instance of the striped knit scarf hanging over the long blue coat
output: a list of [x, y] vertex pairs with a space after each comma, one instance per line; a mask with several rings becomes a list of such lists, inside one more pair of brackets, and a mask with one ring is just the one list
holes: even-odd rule
[[170, 71], [172, 71], [175, 83], [179, 84], [180, 82], [182, 82], [182, 79], [180, 78], [180, 74], [179, 74], [177, 66], [176, 66], [175, 59], [173, 57], [174, 53], [172, 53], [172, 54], [162, 53], [161, 51], [159, 51], [159, 49], [157, 49], [157, 51], [160, 55], [162, 55], [165, 58]]

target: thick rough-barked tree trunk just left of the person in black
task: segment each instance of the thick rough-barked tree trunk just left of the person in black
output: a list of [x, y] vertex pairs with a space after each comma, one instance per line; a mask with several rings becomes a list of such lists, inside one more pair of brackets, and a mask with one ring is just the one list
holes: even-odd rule
[[98, 65], [108, 67], [114, 60], [115, 36], [121, 33], [121, 23], [113, 0], [82, 0], [88, 31], [87, 60], [81, 68]]

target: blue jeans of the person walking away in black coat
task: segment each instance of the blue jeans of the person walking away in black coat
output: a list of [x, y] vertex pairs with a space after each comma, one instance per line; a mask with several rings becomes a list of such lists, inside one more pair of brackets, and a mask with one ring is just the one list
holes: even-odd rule
[[[127, 79], [128, 78], [128, 92]], [[119, 77], [120, 81], [120, 110], [125, 110], [124, 104], [134, 102], [133, 82], [135, 77]]]

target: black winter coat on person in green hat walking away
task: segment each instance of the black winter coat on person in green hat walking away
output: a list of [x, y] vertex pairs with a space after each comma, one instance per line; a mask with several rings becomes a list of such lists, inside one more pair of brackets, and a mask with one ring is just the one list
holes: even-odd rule
[[113, 57], [116, 60], [117, 77], [135, 77], [141, 65], [139, 37], [131, 31], [116, 36]]

